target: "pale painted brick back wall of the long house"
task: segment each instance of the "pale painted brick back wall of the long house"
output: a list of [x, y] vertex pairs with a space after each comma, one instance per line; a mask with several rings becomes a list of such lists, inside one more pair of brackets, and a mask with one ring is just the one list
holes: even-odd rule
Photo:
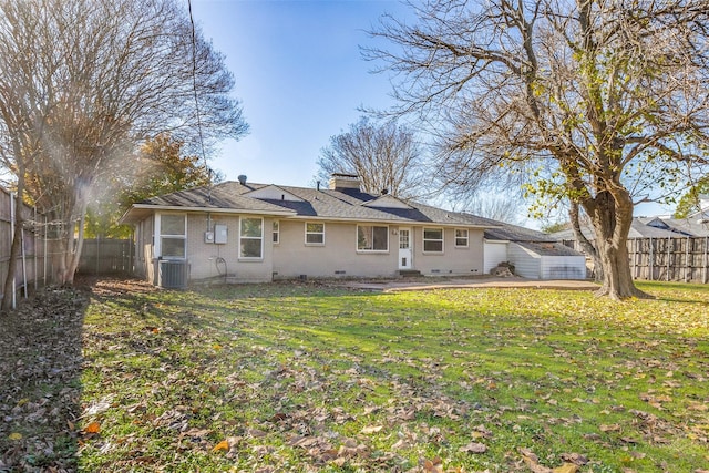
[[[174, 213], [179, 214], [179, 213]], [[185, 215], [184, 213], [182, 215]], [[387, 251], [358, 251], [357, 223], [322, 222], [264, 217], [263, 258], [239, 258], [239, 215], [205, 213], [187, 214], [187, 264], [191, 281], [218, 278], [224, 265], [229, 280], [268, 281], [274, 278], [317, 277], [393, 277], [399, 271], [399, 226], [389, 225], [389, 249]], [[244, 217], [254, 217], [245, 215]], [[273, 241], [273, 222], [279, 222], [279, 241]], [[325, 223], [325, 245], [306, 244], [306, 222]], [[208, 228], [224, 225], [227, 243], [205, 243]], [[384, 225], [384, 224], [382, 224]], [[144, 277], [157, 284], [158, 259], [154, 255], [154, 217], [143, 220], [136, 233], [143, 260]], [[412, 232], [413, 268], [423, 275], [481, 275], [483, 274], [483, 230], [469, 229], [467, 247], [455, 246], [455, 229], [443, 229], [443, 253], [423, 251], [423, 226], [407, 226]], [[431, 227], [435, 227], [432, 225]], [[140, 239], [140, 241], [137, 240]], [[136, 265], [137, 266], [137, 265]], [[138, 274], [141, 274], [138, 271]]]

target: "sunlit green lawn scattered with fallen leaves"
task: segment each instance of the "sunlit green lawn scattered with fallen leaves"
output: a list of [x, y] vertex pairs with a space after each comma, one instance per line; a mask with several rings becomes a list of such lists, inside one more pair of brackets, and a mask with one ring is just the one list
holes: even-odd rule
[[64, 453], [85, 472], [706, 472], [709, 287], [641, 288], [657, 299], [99, 284]]

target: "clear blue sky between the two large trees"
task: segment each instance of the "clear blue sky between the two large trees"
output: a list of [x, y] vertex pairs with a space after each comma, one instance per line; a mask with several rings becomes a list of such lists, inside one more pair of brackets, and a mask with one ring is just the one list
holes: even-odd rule
[[386, 107], [384, 74], [361, 59], [367, 31], [384, 12], [405, 14], [394, 0], [193, 0], [205, 38], [226, 54], [250, 125], [224, 142], [210, 166], [236, 181], [308, 186], [329, 138], [362, 115]]

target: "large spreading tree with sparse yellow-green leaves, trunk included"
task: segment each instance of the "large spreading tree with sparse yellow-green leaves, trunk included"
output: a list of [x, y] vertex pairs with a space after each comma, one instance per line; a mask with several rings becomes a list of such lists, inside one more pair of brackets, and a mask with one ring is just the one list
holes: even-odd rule
[[[707, 164], [709, 1], [440, 0], [386, 17], [370, 50], [393, 72], [399, 114], [435, 131], [443, 169], [516, 173], [588, 215], [599, 294], [633, 282], [634, 204]], [[462, 176], [462, 177], [461, 177]], [[658, 191], [659, 189], [659, 191]]]

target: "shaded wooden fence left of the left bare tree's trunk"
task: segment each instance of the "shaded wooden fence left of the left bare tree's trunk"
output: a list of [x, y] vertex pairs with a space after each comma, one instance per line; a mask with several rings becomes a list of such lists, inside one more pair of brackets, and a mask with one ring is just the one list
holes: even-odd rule
[[45, 285], [48, 275], [47, 238], [43, 232], [47, 225], [41, 224], [44, 217], [37, 215], [37, 212], [27, 205], [16, 208], [14, 194], [0, 187], [0, 299], [6, 297], [2, 290], [8, 277], [10, 247], [19, 212], [25, 220], [22, 226], [22, 246], [12, 275], [13, 290], [7, 295], [12, 297], [13, 307], [18, 296], [28, 297], [30, 290]]

